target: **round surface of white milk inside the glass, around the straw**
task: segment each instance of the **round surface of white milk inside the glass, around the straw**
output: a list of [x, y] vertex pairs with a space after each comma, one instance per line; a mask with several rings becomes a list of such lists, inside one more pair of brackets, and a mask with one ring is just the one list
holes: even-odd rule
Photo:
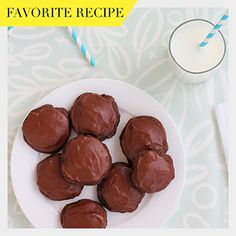
[[190, 21], [175, 31], [171, 40], [171, 51], [182, 68], [198, 73], [212, 69], [221, 61], [225, 48], [219, 32], [207, 46], [199, 47], [199, 43], [212, 28], [206, 21]]

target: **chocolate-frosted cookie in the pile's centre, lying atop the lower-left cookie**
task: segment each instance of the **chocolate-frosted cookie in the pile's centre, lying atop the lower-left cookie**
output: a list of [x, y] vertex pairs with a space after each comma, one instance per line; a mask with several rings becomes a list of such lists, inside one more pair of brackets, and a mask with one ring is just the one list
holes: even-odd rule
[[99, 183], [111, 168], [111, 156], [105, 144], [89, 135], [71, 139], [62, 152], [62, 174], [82, 185]]

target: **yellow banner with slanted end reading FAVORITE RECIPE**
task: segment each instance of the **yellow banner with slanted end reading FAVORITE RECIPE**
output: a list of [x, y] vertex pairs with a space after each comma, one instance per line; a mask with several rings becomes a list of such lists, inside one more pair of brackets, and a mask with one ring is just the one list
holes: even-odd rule
[[120, 26], [137, 0], [5, 0], [0, 26]]

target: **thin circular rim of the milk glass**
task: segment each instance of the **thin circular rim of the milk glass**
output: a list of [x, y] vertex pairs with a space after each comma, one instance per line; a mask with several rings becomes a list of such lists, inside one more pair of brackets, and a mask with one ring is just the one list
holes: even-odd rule
[[208, 21], [208, 20], [205, 20], [205, 19], [201, 19], [201, 18], [199, 18], [199, 19], [191, 19], [191, 20], [184, 21], [183, 23], [181, 23], [180, 25], [178, 25], [178, 26], [173, 30], [173, 32], [171, 33], [171, 36], [170, 36], [170, 38], [169, 38], [169, 46], [168, 46], [168, 48], [169, 48], [169, 53], [170, 53], [171, 58], [172, 58], [173, 61], [175, 62], [175, 64], [176, 64], [178, 67], [180, 67], [182, 70], [184, 70], [184, 71], [186, 71], [186, 72], [188, 72], [188, 73], [190, 73], [190, 74], [196, 74], [196, 75], [198, 75], [198, 74], [204, 74], [204, 73], [206, 73], [206, 72], [209, 72], [209, 71], [211, 71], [211, 70], [214, 70], [216, 67], [218, 67], [218, 66], [221, 64], [221, 62], [222, 62], [223, 59], [225, 58], [225, 54], [226, 54], [226, 42], [225, 42], [225, 38], [224, 38], [222, 32], [221, 32], [220, 30], [218, 30], [218, 32], [220, 33], [220, 35], [221, 35], [221, 37], [222, 37], [222, 39], [223, 39], [223, 43], [224, 43], [224, 53], [223, 53], [222, 58], [220, 59], [220, 61], [219, 61], [215, 66], [213, 66], [212, 68], [207, 69], [207, 70], [204, 70], [204, 71], [194, 72], [194, 71], [190, 71], [190, 70], [185, 69], [184, 67], [182, 67], [182, 66], [175, 60], [175, 58], [174, 58], [174, 56], [173, 56], [173, 54], [172, 54], [172, 51], [171, 51], [171, 41], [172, 41], [172, 38], [173, 38], [173, 35], [175, 34], [175, 32], [176, 32], [182, 25], [187, 24], [187, 23], [192, 22], [192, 21], [205, 21], [205, 22], [211, 24], [213, 27], [215, 26], [212, 22], [210, 22], [210, 21]]

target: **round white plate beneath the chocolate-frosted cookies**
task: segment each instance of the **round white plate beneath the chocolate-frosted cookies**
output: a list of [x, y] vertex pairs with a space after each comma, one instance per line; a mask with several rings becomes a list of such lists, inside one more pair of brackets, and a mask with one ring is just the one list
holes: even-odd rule
[[[133, 116], [151, 115], [164, 125], [169, 144], [168, 153], [175, 167], [175, 179], [163, 191], [145, 194], [138, 209], [133, 213], [108, 213], [109, 228], [160, 227], [175, 209], [184, 185], [185, 158], [178, 130], [164, 108], [142, 90], [117, 80], [79, 80], [49, 93], [34, 108], [50, 103], [70, 109], [75, 99], [84, 92], [106, 93], [114, 97], [121, 120], [116, 135], [105, 140], [113, 162], [126, 161], [121, 151], [119, 136], [126, 122]], [[37, 187], [35, 168], [44, 158], [32, 150], [23, 140], [21, 128], [18, 130], [11, 156], [11, 177], [18, 203], [26, 217], [36, 228], [60, 228], [60, 211], [65, 204], [82, 198], [97, 200], [96, 186], [85, 186], [81, 195], [66, 201], [52, 201], [42, 195]]]

